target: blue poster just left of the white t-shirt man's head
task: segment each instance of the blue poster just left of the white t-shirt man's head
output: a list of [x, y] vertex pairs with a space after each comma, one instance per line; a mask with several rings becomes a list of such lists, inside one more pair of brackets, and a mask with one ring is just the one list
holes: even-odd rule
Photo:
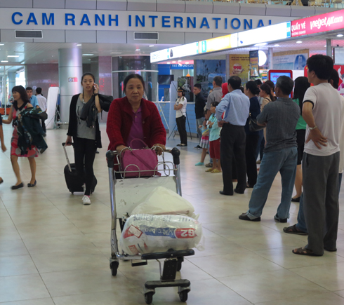
[[310, 50], [290, 50], [273, 54], [273, 69], [278, 70], [303, 70], [309, 57]]

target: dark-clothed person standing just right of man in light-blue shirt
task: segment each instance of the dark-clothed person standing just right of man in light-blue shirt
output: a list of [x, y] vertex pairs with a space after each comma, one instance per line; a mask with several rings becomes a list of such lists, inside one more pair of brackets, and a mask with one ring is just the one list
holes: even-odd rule
[[[250, 99], [250, 116], [256, 119], [260, 114], [260, 105], [257, 95], [260, 90], [257, 83], [248, 81], [244, 87], [244, 93]], [[253, 188], [257, 183], [257, 165], [256, 165], [256, 149], [259, 139], [259, 131], [250, 131], [249, 127], [250, 118], [247, 118], [245, 125], [246, 132], [246, 172], [247, 172], [247, 185], [248, 188]]]

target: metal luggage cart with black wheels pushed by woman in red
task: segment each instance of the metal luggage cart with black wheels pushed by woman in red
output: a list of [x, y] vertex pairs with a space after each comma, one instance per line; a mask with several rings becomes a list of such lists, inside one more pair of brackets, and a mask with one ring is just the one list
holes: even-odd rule
[[[173, 157], [173, 162], [165, 161], [164, 154], [171, 154]], [[182, 268], [182, 262], [185, 256], [194, 255], [194, 250], [173, 250], [169, 249], [167, 252], [155, 252], [147, 253], [143, 255], [127, 255], [125, 253], [119, 252], [118, 241], [116, 235], [116, 224], [117, 224], [117, 209], [121, 209], [121, 202], [116, 201], [116, 184], [124, 185], [124, 180], [129, 182], [128, 189], [124, 189], [124, 196], [130, 193], [131, 201], [124, 202], [125, 208], [121, 209], [122, 215], [126, 212], [131, 212], [135, 208], [135, 201], [140, 197], [148, 194], [152, 187], [147, 187], [146, 184], [153, 184], [153, 188], [157, 185], [164, 185], [174, 190], [182, 195], [181, 183], [180, 183], [180, 151], [177, 148], [172, 150], [165, 150], [162, 154], [162, 162], [157, 165], [157, 172], [161, 172], [161, 177], [145, 177], [145, 179], [140, 178], [140, 171], [138, 178], [125, 178], [125, 172], [116, 170], [120, 168], [120, 158], [117, 151], [107, 151], [107, 167], [109, 170], [109, 182], [110, 182], [110, 202], [111, 202], [111, 214], [112, 214], [112, 225], [111, 225], [111, 257], [110, 257], [110, 269], [112, 276], [117, 275], [117, 269], [119, 266], [119, 260], [131, 260], [132, 266], [143, 266], [147, 265], [147, 260], [155, 259], [159, 262], [160, 269], [160, 280], [149, 280], [145, 283], [145, 302], [151, 304], [153, 301], [153, 295], [155, 293], [155, 288], [158, 287], [178, 287], [178, 294], [180, 301], [187, 301], [187, 294], [190, 292], [190, 281], [189, 280], [176, 280], [176, 273]], [[162, 167], [162, 169], [159, 169]], [[172, 175], [173, 174], [173, 175]], [[121, 177], [121, 179], [119, 179]], [[145, 180], [145, 187], [140, 184], [141, 181]], [[164, 181], [163, 181], [164, 180]], [[171, 181], [173, 183], [171, 183]], [[161, 184], [162, 183], [162, 184]], [[173, 184], [173, 185], [172, 185]], [[140, 187], [141, 185], [141, 187]], [[141, 191], [140, 191], [141, 190]], [[136, 193], [135, 193], [136, 192]], [[119, 205], [119, 206], [117, 206]], [[161, 271], [161, 262], [159, 259], [165, 259], [164, 267]], [[140, 260], [140, 262], [135, 262], [135, 260]]]

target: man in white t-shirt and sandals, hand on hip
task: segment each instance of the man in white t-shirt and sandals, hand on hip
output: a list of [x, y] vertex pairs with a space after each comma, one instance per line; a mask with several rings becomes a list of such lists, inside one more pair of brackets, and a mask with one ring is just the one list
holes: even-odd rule
[[307, 60], [308, 81], [303, 99], [303, 118], [307, 123], [303, 155], [303, 212], [308, 244], [294, 249], [297, 255], [322, 256], [336, 251], [338, 233], [339, 138], [343, 121], [343, 102], [328, 79], [333, 71], [329, 56], [313, 55]]

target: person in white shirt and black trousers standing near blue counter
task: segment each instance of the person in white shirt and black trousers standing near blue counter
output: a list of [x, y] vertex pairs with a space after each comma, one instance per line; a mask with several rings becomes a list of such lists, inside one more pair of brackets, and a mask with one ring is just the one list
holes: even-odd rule
[[177, 146], [185, 147], [187, 146], [187, 133], [186, 133], [186, 107], [187, 107], [187, 100], [184, 96], [183, 88], [178, 88], [178, 99], [176, 100], [176, 104], [174, 104], [174, 110], [176, 110], [176, 123], [178, 128], [178, 133], [180, 136], [180, 144]]

